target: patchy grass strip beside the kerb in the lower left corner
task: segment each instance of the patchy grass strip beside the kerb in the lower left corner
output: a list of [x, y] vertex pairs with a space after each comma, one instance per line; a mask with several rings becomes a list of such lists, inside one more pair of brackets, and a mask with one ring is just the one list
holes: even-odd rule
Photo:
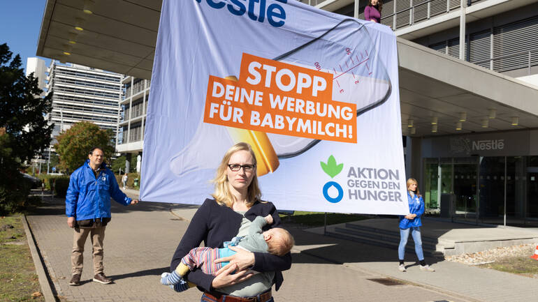
[[[0, 301], [45, 301], [30, 250], [22, 215], [0, 218]], [[13, 228], [10, 228], [13, 226]]]

